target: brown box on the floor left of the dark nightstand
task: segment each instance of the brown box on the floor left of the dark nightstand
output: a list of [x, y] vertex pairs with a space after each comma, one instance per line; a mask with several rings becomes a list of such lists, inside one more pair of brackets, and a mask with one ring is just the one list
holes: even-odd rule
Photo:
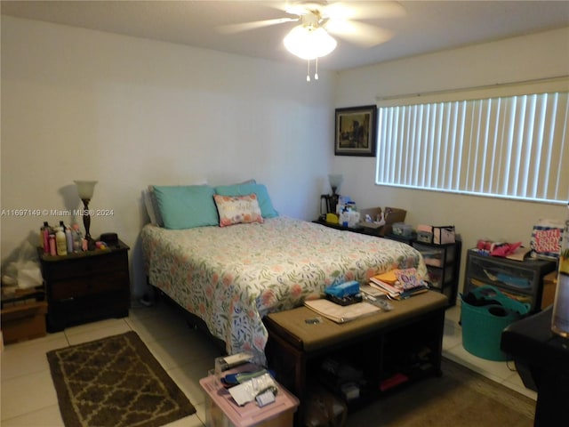
[[47, 302], [27, 300], [4, 304], [2, 334], [4, 343], [20, 342], [45, 336]]

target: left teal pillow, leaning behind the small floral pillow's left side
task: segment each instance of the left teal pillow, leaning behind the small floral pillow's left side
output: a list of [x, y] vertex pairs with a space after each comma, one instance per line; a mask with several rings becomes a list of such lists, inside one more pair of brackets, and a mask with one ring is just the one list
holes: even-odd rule
[[192, 229], [219, 225], [213, 202], [215, 191], [209, 185], [154, 186], [164, 228]]

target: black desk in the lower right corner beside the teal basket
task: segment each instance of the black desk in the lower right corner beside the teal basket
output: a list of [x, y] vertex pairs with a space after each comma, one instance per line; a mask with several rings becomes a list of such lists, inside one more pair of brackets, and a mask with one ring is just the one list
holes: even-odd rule
[[537, 391], [536, 427], [569, 425], [569, 340], [551, 332], [552, 307], [504, 329], [501, 350], [512, 355], [525, 387]]

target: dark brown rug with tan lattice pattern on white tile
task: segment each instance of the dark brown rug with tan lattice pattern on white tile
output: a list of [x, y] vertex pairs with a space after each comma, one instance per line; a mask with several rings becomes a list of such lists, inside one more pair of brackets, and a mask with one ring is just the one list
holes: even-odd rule
[[66, 427], [158, 427], [196, 412], [134, 332], [47, 359]]

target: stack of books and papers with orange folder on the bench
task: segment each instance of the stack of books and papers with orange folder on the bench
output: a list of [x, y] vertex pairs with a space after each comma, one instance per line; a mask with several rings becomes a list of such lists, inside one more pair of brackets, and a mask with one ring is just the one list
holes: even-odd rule
[[403, 300], [429, 290], [427, 282], [417, 278], [416, 269], [390, 270], [375, 275], [370, 278], [370, 286], [394, 300]]

